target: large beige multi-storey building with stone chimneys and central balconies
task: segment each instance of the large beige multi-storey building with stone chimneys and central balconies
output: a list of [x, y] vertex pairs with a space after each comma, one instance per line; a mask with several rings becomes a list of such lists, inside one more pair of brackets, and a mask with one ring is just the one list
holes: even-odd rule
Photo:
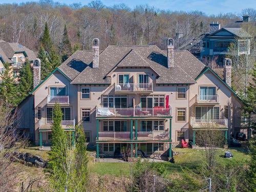
[[[229, 87], [230, 60], [224, 68], [228, 86], [191, 53], [174, 51], [173, 45], [169, 38], [167, 51], [157, 46], [100, 51], [95, 38], [93, 50], [76, 51], [40, 83], [40, 64], [34, 63], [35, 88], [19, 107], [18, 129], [26, 126], [36, 144], [50, 144], [57, 102], [63, 129], [74, 133], [75, 124], [82, 125], [97, 157], [128, 149], [135, 157], [137, 149], [145, 156], [170, 157], [172, 146], [182, 139], [196, 144], [202, 123], [223, 130], [228, 139], [240, 127], [243, 105]], [[34, 126], [25, 125], [31, 121]]]

